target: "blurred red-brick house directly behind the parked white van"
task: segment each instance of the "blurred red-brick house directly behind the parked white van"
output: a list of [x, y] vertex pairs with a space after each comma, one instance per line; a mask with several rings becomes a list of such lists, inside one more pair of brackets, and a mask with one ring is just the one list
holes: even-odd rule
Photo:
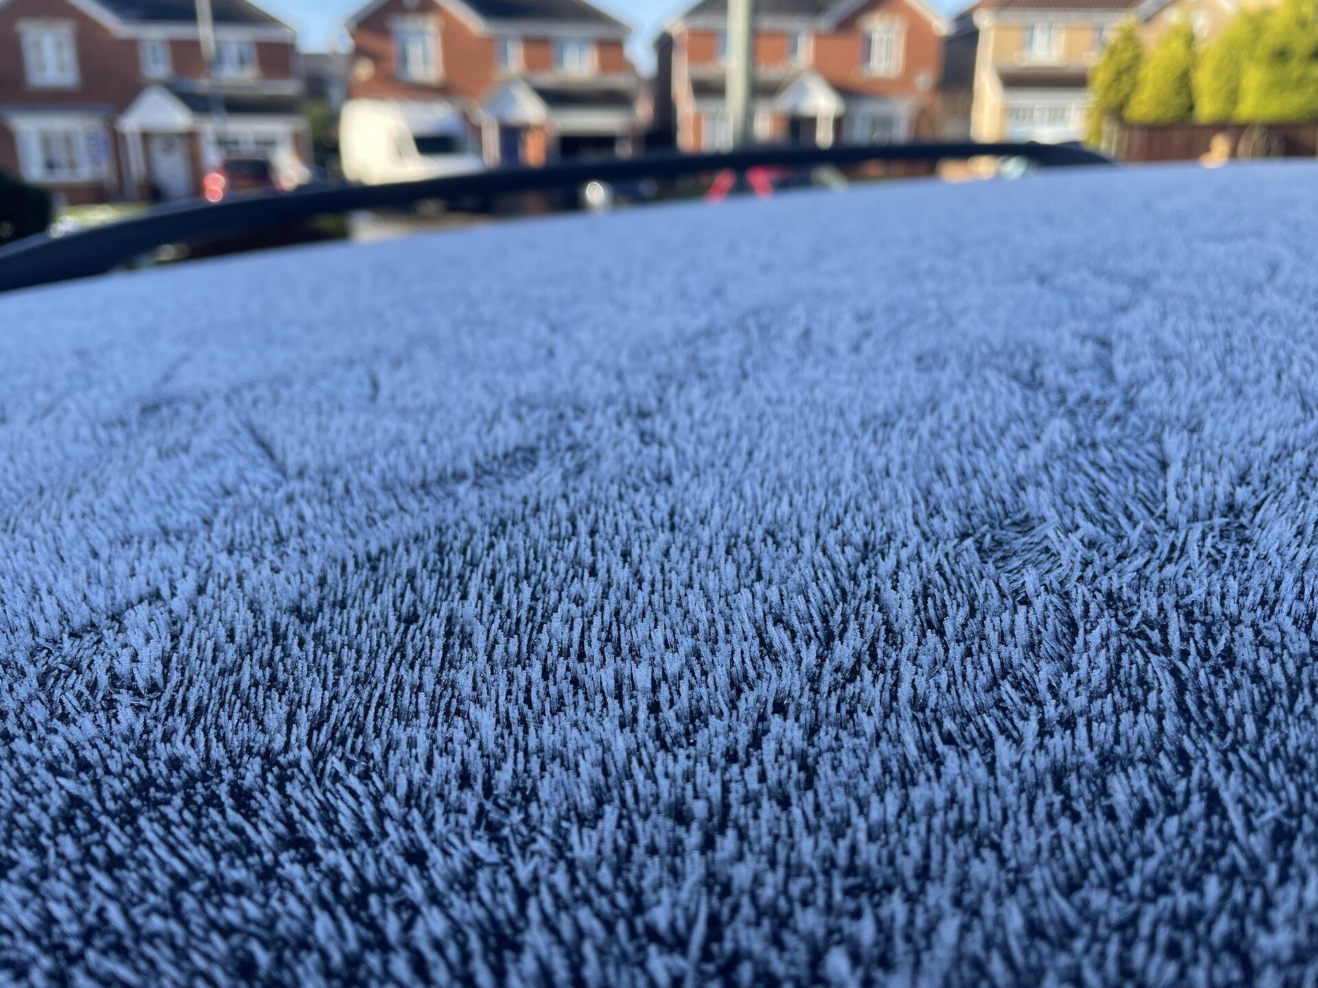
[[349, 97], [456, 109], [490, 165], [630, 150], [629, 29], [584, 0], [373, 0], [348, 32]]

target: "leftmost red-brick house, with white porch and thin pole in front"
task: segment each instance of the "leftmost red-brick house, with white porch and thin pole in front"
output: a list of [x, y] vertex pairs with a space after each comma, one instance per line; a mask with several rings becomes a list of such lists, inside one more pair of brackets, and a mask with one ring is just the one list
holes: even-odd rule
[[212, 4], [214, 115], [194, 0], [0, 0], [0, 171], [70, 204], [196, 195], [225, 151], [295, 171], [294, 32]]

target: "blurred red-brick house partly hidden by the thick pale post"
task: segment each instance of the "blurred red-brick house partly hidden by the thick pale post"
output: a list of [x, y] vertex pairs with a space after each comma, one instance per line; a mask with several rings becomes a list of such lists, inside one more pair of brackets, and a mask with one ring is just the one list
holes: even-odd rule
[[[726, 0], [701, 0], [656, 42], [656, 126], [685, 151], [730, 142]], [[762, 0], [753, 78], [755, 138], [830, 145], [938, 130], [948, 21], [923, 0]]]

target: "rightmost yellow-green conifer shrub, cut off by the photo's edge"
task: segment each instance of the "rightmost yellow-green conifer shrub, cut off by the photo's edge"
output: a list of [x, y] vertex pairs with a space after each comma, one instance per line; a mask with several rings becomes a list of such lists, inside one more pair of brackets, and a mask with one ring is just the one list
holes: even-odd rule
[[1318, 117], [1318, 18], [1310, 0], [1284, 0], [1263, 17], [1235, 117], [1257, 124]]

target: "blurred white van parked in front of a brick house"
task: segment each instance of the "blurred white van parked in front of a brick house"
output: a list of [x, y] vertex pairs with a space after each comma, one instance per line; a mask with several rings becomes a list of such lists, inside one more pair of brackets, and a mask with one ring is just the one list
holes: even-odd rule
[[480, 171], [467, 120], [443, 100], [349, 100], [339, 119], [344, 175], [368, 186]]

